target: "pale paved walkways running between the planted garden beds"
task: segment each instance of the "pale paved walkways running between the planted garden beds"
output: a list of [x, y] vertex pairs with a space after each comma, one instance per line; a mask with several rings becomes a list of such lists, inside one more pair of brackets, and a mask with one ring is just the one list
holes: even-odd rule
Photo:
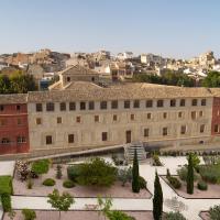
[[[147, 188], [152, 194], [154, 193], [155, 170], [157, 170], [158, 175], [166, 175], [166, 168], [169, 168], [170, 174], [175, 175], [176, 169], [187, 163], [186, 157], [161, 157], [161, 161], [164, 164], [163, 167], [153, 167], [150, 164], [140, 165], [140, 174], [147, 180]], [[11, 167], [13, 167], [13, 164], [11, 164]], [[12, 168], [10, 168], [10, 170]], [[220, 199], [185, 199], [179, 197], [162, 178], [161, 184], [163, 188], [164, 200], [176, 197], [178, 201], [182, 201], [186, 207], [182, 213], [188, 220], [199, 220], [199, 212], [201, 210], [208, 210], [211, 206], [220, 204]], [[85, 210], [85, 205], [97, 204], [97, 199], [95, 198], [75, 198], [75, 200], [76, 204], [70, 207], [72, 210]], [[12, 196], [12, 207], [14, 209], [53, 209], [51, 205], [47, 204], [46, 197]], [[152, 210], [152, 199], [113, 199], [112, 208], [119, 210]], [[165, 202], [164, 211], [172, 211]]]

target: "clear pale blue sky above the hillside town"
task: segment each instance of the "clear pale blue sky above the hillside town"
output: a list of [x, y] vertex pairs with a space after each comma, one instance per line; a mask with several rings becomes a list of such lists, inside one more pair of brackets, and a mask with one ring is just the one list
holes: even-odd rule
[[2, 0], [0, 54], [132, 51], [220, 57], [219, 0]]

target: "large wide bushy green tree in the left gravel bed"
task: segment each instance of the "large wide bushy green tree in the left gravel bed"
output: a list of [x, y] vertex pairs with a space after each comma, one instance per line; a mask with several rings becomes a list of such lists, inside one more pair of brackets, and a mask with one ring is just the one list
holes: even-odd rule
[[80, 165], [77, 183], [85, 186], [110, 187], [117, 179], [117, 168], [96, 157]]

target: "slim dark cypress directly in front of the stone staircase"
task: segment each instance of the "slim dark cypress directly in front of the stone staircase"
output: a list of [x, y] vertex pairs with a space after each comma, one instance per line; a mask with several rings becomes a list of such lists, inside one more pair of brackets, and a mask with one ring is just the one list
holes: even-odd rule
[[134, 151], [133, 168], [132, 168], [132, 191], [136, 194], [140, 191], [139, 160], [138, 160], [136, 150]]

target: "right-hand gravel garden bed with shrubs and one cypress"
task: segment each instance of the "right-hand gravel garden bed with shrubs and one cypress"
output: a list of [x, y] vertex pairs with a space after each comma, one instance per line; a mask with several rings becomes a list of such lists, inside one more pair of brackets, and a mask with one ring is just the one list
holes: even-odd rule
[[205, 164], [196, 154], [188, 155], [188, 164], [170, 175], [167, 169], [162, 178], [182, 197], [220, 198], [220, 160], [219, 156], [204, 156]]

